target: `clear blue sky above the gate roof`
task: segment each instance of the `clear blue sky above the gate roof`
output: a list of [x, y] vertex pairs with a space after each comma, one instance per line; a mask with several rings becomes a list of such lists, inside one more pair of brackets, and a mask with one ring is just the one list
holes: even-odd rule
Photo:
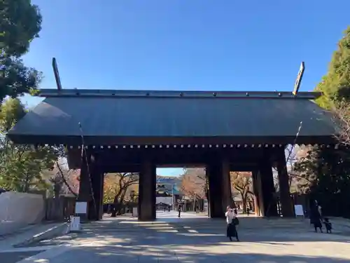
[[291, 91], [304, 61], [313, 90], [350, 25], [349, 0], [32, 2], [43, 29], [24, 59], [42, 88], [56, 57], [63, 88]]

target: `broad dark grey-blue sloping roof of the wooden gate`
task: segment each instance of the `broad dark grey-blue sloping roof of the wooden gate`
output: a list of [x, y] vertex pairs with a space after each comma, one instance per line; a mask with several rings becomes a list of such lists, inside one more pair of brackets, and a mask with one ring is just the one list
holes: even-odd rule
[[[15, 142], [80, 137], [332, 137], [330, 115], [293, 97], [47, 97], [10, 130]], [[33, 137], [34, 136], [34, 137]], [[64, 139], [65, 138], [65, 139]], [[57, 143], [58, 143], [57, 142]]]

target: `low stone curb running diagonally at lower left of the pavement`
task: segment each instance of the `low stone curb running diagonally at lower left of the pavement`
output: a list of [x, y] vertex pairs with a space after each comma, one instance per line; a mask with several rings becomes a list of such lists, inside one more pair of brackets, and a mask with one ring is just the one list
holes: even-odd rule
[[69, 233], [69, 224], [64, 222], [64, 223], [58, 224], [55, 227], [51, 227], [50, 229], [47, 229], [39, 234], [35, 234], [34, 236], [27, 238], [25, 241], [22, 241], [20, 243], [13, 245], [13, 247], [22, 248], [27, 245], [30, 245], [31, 243], [36, 243], [43, 239], [49, 239], [55, 236], [61, 236], [68, 233]]

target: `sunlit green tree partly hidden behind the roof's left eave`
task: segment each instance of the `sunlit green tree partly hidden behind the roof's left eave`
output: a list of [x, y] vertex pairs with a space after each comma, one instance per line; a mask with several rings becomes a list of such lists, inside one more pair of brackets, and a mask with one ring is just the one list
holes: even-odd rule
[[43, 170], [50, 169], [57, 160], [54, 147], [15, 145], [7, 140], [6, 133], [26, 113], [20, 100], [8, 99], [0, 107], [0, 187], [14, 191], [45, 189], [48, 181]]

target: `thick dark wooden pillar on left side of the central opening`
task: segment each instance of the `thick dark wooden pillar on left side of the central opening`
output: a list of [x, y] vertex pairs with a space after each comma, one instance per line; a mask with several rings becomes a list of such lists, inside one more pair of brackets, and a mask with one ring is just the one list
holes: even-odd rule
[[138, 217], [140, 221], [155, 220], [155, 165], [149, 160], [141, 163], [139, 173], [139, 207]]

